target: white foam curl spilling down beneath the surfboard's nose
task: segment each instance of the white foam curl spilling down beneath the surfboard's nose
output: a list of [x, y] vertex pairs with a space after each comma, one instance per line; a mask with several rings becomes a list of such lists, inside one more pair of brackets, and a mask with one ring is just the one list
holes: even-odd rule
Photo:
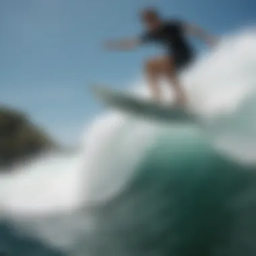
[[154, 141], [152, 129], [148, 123], [133, 122], [121, 113], [109, 113], [95, 121], [86, 133], [88, 201], [107, 200], [121, 191]]

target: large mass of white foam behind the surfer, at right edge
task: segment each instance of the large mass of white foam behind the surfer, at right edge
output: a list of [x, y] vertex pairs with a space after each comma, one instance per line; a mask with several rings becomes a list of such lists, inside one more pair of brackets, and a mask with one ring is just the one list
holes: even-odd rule
[[213, 143], [244, 164], [256, 164], [256, 30], [222, 40], [185, 77], [191, 107], [205, 118]]

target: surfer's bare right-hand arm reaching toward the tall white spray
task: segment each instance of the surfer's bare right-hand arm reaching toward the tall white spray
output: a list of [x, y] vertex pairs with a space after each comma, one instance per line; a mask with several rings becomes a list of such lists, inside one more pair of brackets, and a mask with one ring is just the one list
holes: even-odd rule
[[212, 36], [211, 34], [207, 33], [205, 30], [203, 30], [203, 28], [200, 28], [195, 24], [185, 24], [185, 31], [188, 34], [197, 36], [197, 38], [200, 38], [209, 46], [214, 46], [218, 41], [218, 39], [215, 36]]

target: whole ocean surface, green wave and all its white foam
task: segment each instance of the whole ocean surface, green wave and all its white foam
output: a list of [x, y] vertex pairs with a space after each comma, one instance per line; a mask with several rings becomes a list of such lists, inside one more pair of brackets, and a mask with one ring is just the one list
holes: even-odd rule
[[108, 110], [81, 152], [1, 174], [0, 254], [254, 256], [255, 30], [225, 36], [182, 79], [198, 125]]

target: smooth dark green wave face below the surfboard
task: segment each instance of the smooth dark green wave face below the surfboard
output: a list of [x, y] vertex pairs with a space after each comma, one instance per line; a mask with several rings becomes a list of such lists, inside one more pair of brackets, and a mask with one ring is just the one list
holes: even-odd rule
[[90, 255], [255, 255], [255, 168], [182, 130], [161, 134], [129, 187], [95, 212]]

